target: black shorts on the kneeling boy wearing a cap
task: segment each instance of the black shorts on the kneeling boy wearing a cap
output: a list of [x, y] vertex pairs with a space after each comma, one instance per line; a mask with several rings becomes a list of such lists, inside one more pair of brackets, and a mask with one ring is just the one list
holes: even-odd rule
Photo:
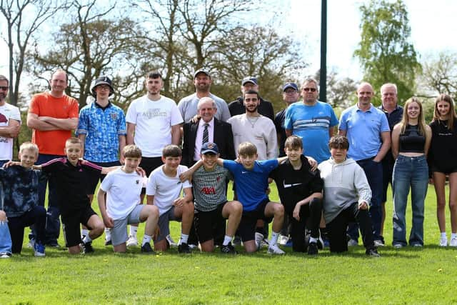
[[201, 244], [214, 239], [216, 236], [220, 236], [221, 232], [224, 234], [226, 230], [226, 219], [222, 216], [222, 209], [224, 209], [226, 203], [220, 204], [213, 211], [195, 210], [194, 226]]

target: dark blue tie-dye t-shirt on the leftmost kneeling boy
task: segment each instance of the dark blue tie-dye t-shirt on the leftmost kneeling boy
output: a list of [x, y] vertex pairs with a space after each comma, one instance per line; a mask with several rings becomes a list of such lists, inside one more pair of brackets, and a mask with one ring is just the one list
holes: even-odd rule
[[38, 203], [38, 185], [41, 171], [19, 165], [0, 168], [0, 191], [4, 196], [7, 217], [22, 216]]

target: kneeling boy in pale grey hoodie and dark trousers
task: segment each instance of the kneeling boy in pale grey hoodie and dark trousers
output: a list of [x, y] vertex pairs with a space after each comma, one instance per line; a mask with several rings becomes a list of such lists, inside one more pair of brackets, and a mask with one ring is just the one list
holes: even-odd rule
[[346, 158], [349, 141], [346, 136], [333, 136], [328, 142], [331, 158], [318, 165], [323, 179], [323, 216], [326, 220], [331, 252], [348, 251], [346, 229], [356, 221], [362, 233], [366, 255], [379, 256], [373, 241], [368, 202], [370, 185], [363, 169]]

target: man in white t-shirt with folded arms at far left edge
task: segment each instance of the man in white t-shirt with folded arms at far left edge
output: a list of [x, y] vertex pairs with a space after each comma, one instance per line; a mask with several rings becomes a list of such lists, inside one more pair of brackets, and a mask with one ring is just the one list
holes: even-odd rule
[[8, 89], [8, 79], [0, 75], [0, 166], [13, 158], [13, 139], [21, 129], [19, 108], [6, 103]]

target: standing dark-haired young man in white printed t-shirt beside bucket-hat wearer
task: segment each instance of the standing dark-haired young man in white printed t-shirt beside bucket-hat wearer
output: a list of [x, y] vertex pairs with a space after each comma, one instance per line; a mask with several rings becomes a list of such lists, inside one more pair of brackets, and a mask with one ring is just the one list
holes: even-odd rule
[[[161, 96], [164, 84], [159, 72], [146, 74], [147, 94], [131, 102], [127, 109], [127, 144], [139, 146], [143, 156], [141, 166], [146, 175], [162, 164], [162, 149], [169, 144], [181, 144], [181, 124], [183, 119], [174, 100]], [[141, 191], [141, 201], [144, 190]], [[127, 246], [136, 246], [136, 226], [130, 228], [131, 239]]]

